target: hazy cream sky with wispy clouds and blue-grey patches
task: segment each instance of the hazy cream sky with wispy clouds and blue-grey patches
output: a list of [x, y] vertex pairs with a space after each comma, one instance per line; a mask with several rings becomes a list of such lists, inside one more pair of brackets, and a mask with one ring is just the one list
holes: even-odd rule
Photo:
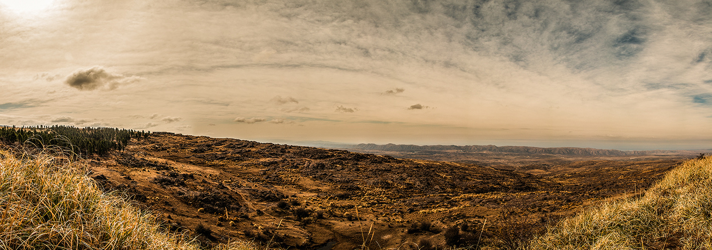
[[712, 148], [712, 1], [0, 0], [0, 124]]

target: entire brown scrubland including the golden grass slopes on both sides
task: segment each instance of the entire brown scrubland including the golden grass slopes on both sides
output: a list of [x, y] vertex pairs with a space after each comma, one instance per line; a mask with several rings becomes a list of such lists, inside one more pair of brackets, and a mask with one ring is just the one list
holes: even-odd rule
[[[531, 175], [192, 136], [127, 145], [0, 151], [0, 249], [712, 249], [712, 158]], [[614, 198], [631, 184], [646, 191]]]

